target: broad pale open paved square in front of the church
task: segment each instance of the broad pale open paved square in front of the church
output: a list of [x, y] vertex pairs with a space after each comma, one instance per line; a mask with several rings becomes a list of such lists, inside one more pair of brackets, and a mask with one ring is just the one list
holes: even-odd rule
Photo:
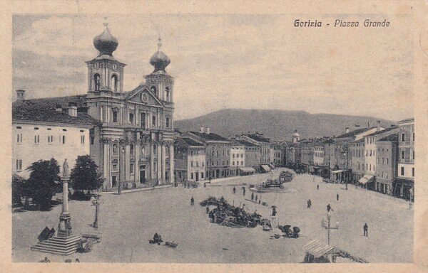
[[[277, 168], [275, 176], [284, 168]], [[47, 225], [58, 225], [61, 205], [49, 212], [23, 212], [13, 215], [13, 260], [36, 262], [49, 257], [63, 262], [203, 262], [203, 263], [282, 263], [302, 262], [303, 245], [310, 239], [327, 242], [327, 232], [321, 227], [328, 203], [334, 210], [332, 223], [339, 229], [331, 233], [331, 245], [363, 257], [370, 262], [412, 262], [413, 210], [407, 202], [355, 186], [325, 184], [320, 177], [297, 176], [286, 187], [287, 193], [262, 193], [269, 206], [252, 203], [251, 191], [243, 196], [242, 183], [262, 183], [269, 174], [213, 181], [207, 188], [185, 189], [170, 187], [153, 191], [126, 193], [121, 196], [103, 194], [100, 208], [101, 243], [92, 252], [60, 257], [32, 252], [39, 232]], [[233, 184], [237, 193], [233, 195]], [[320, 190], [317, 191], [317, 184]], [[339, 201], [336, 194], [340, 194]], [[260, 193], [258, 193], [260, 196]], [[195, 205], [190, 206], [190, 198]], [[199, 202], [208, 196], [224, 196], [230, 203], [245, 203], [253, 212], [267, 217], [270, 205], [277, 205], [280, 225], [298, 226], [298, 239], [270, 239], [271, 232], [257, 228], [227, 228], [210, 223], [205, 208]], [[307, 209], [307, 199], [312, 208]], [[70, 202], [73, 232], [93, 232], [95, 208], [89, 201]], [[369, 237], [363, 237], [363, 225], [369, 227]], [[165, 241], [178, 242], [178, 247], [149, 245], [148, 240], [158, 232]]]

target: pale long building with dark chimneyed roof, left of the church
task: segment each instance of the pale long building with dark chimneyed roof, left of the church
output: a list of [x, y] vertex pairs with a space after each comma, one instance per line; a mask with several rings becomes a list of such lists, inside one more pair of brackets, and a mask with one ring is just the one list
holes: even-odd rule
[[67, 159], [71, 170], [78, 156], [90, 153], [91, 129], [100, 125], [96, 119], [78, 112], [74, 102], [63, 108], [57, 104], [68, 100], [24, 100], [25, 91], [16, 92], [18, 100], [12, 104], [14, 173], [29, 178], [26, 168], [50, 159], [56, 159], [59, 166]]

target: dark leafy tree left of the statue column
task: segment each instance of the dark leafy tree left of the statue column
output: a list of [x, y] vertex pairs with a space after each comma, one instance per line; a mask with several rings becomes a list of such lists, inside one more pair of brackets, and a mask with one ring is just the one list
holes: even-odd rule
[[26, 190], [33, 198], [33, 203], [42, 209], [50, 208], [52, 196], [61, 191], [58, 162], [55, 159], [39, 160], [27, 170], [31, 173]]

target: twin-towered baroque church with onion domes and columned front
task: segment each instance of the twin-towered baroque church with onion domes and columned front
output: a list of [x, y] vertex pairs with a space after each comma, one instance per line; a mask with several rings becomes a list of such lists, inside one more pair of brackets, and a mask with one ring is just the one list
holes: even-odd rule
[[93, 39], [99, 55], [88, 67], [88, 114], [102, 125], [93, 128], [91, 156], [101, 167], [103, 188], [161, 185], [174, 181], [174, 79], [165, 68], [170, 59], [161, 51], [151, 57], [154, 70], [146, 82], [123, 91], [125, 64], [113, 57], [118, 41], [108, 30]]

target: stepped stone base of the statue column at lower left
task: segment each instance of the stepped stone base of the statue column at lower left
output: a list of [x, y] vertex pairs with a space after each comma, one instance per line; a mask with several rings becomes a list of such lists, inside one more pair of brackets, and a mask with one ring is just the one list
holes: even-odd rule
[[80, 240], [81, 238], [78, 236], [60, 237], [55, 235], [48, 240], [37, 243], [37, 245], [31, 247], [31, 250], [56, 255], [70, 255], [76, 252]]

